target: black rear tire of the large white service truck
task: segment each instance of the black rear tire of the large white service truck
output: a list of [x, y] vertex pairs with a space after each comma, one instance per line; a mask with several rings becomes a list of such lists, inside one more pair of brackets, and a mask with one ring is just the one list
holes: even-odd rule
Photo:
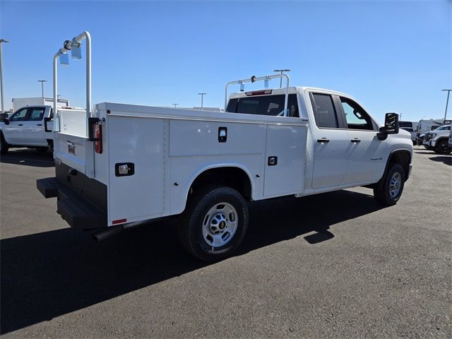
[[[218, 232], [222, 233], [217, 235], [220, 237], [223, 237], [224, 235], [226, 237], [226, 243], [221, 246], [221, 243], [212, 245], [208, 240], [211, 239], [211, 242], [214, 242], [213, 237], [207, 234], [205, 238], [205, 233], [206, 230], [209, 230], [209, 232], [211, 231], [211, 228], [209, 227], [215, 221], [214, 217], [219, 215], [219, 212], [214, 212], [215, 214], [210, 213], [210, 215], [208, 212], [217, 208], [217, 206], [221, 208], [222, 203], [226, 203], [234, 208], [237, 213], [237, 216], [235, 217], [236, 226], [234, 227], [234, 232], [229, 233], [230, 237], [227, 237], [228, 230], [232, 230], [232, 227], [229, 228], [230, 224], [226, 223], [228, 221], [227, 218], [230, 217], [222, 215], [226, 219], [221, 230], [220, 226], [218, 226]], [[232, 215], [234, 215], [233, 212]], [[234, 223], [232, 218], [230, 219], [230, 221]], [[221, 222], [218, 225], [221, 225]], [[195, 192], [193, 196], [189, 198], [186, 209], [182, 215], [182, 220], [178, 225], [178, 234], [182, 246], [184, 246], [190, 254], [203, 261], [213, 262], [231, 256], [242, 243], [247, 228], [248, 206], [242, 195], [235, 189], [227, 186], [208, 186]], [[214, 235], [214, 237], [216, 236]]]

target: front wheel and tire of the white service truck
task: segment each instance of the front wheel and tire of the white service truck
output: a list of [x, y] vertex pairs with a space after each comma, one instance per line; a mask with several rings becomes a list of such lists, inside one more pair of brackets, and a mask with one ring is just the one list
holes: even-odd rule
[[[399, 164], [390, 164], [389, 166], [386, 176], [382, 179], [383, 183], [381, 185], [377, 184], [374, 188], [374, 197], [383, 206], [396, 205], [402, 195], [405, 184], [405, 171], [403, 167]], [[394, 182], [391, 183], [393, 176], [395, 176], [394, 179], [398, 182], [397, 193], [396, 187], [391, 186], [391, 184], [394, 184]]]

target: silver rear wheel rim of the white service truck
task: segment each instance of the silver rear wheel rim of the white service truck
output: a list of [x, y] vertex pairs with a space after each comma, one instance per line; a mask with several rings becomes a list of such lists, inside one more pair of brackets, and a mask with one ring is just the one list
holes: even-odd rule
[[239, 225], [237, 210], [230, 203], [215, 203], [203, 218], [203, 238], [209, 246], [224, 246]]

